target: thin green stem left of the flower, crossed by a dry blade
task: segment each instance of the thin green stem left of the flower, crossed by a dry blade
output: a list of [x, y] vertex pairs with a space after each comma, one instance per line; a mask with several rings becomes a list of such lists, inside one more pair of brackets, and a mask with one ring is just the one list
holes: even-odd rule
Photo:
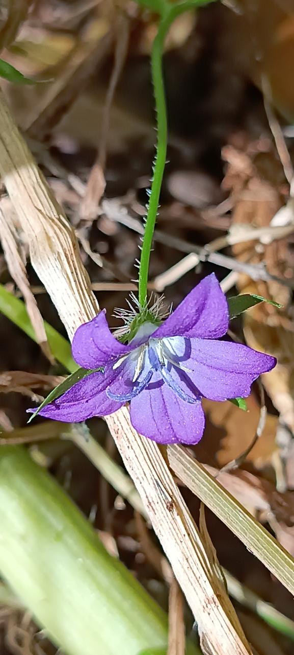
[[[20, 329], [31, 337], [31, 339], [37, 341], [35, 330], [31, 324], [31, 319], [27, 313], [25, 303], [23, 303], [19, 298], [16, 298], [12, 293], [9, 293], [2, 284], [0, 284], [0, 312], [5, 314], [10, 321], [20, 327]], [[44, 327], [50, 350], [54, 357], [58, 362], [61, 362], [68, 371], [76, 371], [79, 367], [71, 356], [71, 344], [69, 341], [62, 337], [61, 334], [59, 334], [54, 327], [46, 323], [46, 321], [44, 321]]]

